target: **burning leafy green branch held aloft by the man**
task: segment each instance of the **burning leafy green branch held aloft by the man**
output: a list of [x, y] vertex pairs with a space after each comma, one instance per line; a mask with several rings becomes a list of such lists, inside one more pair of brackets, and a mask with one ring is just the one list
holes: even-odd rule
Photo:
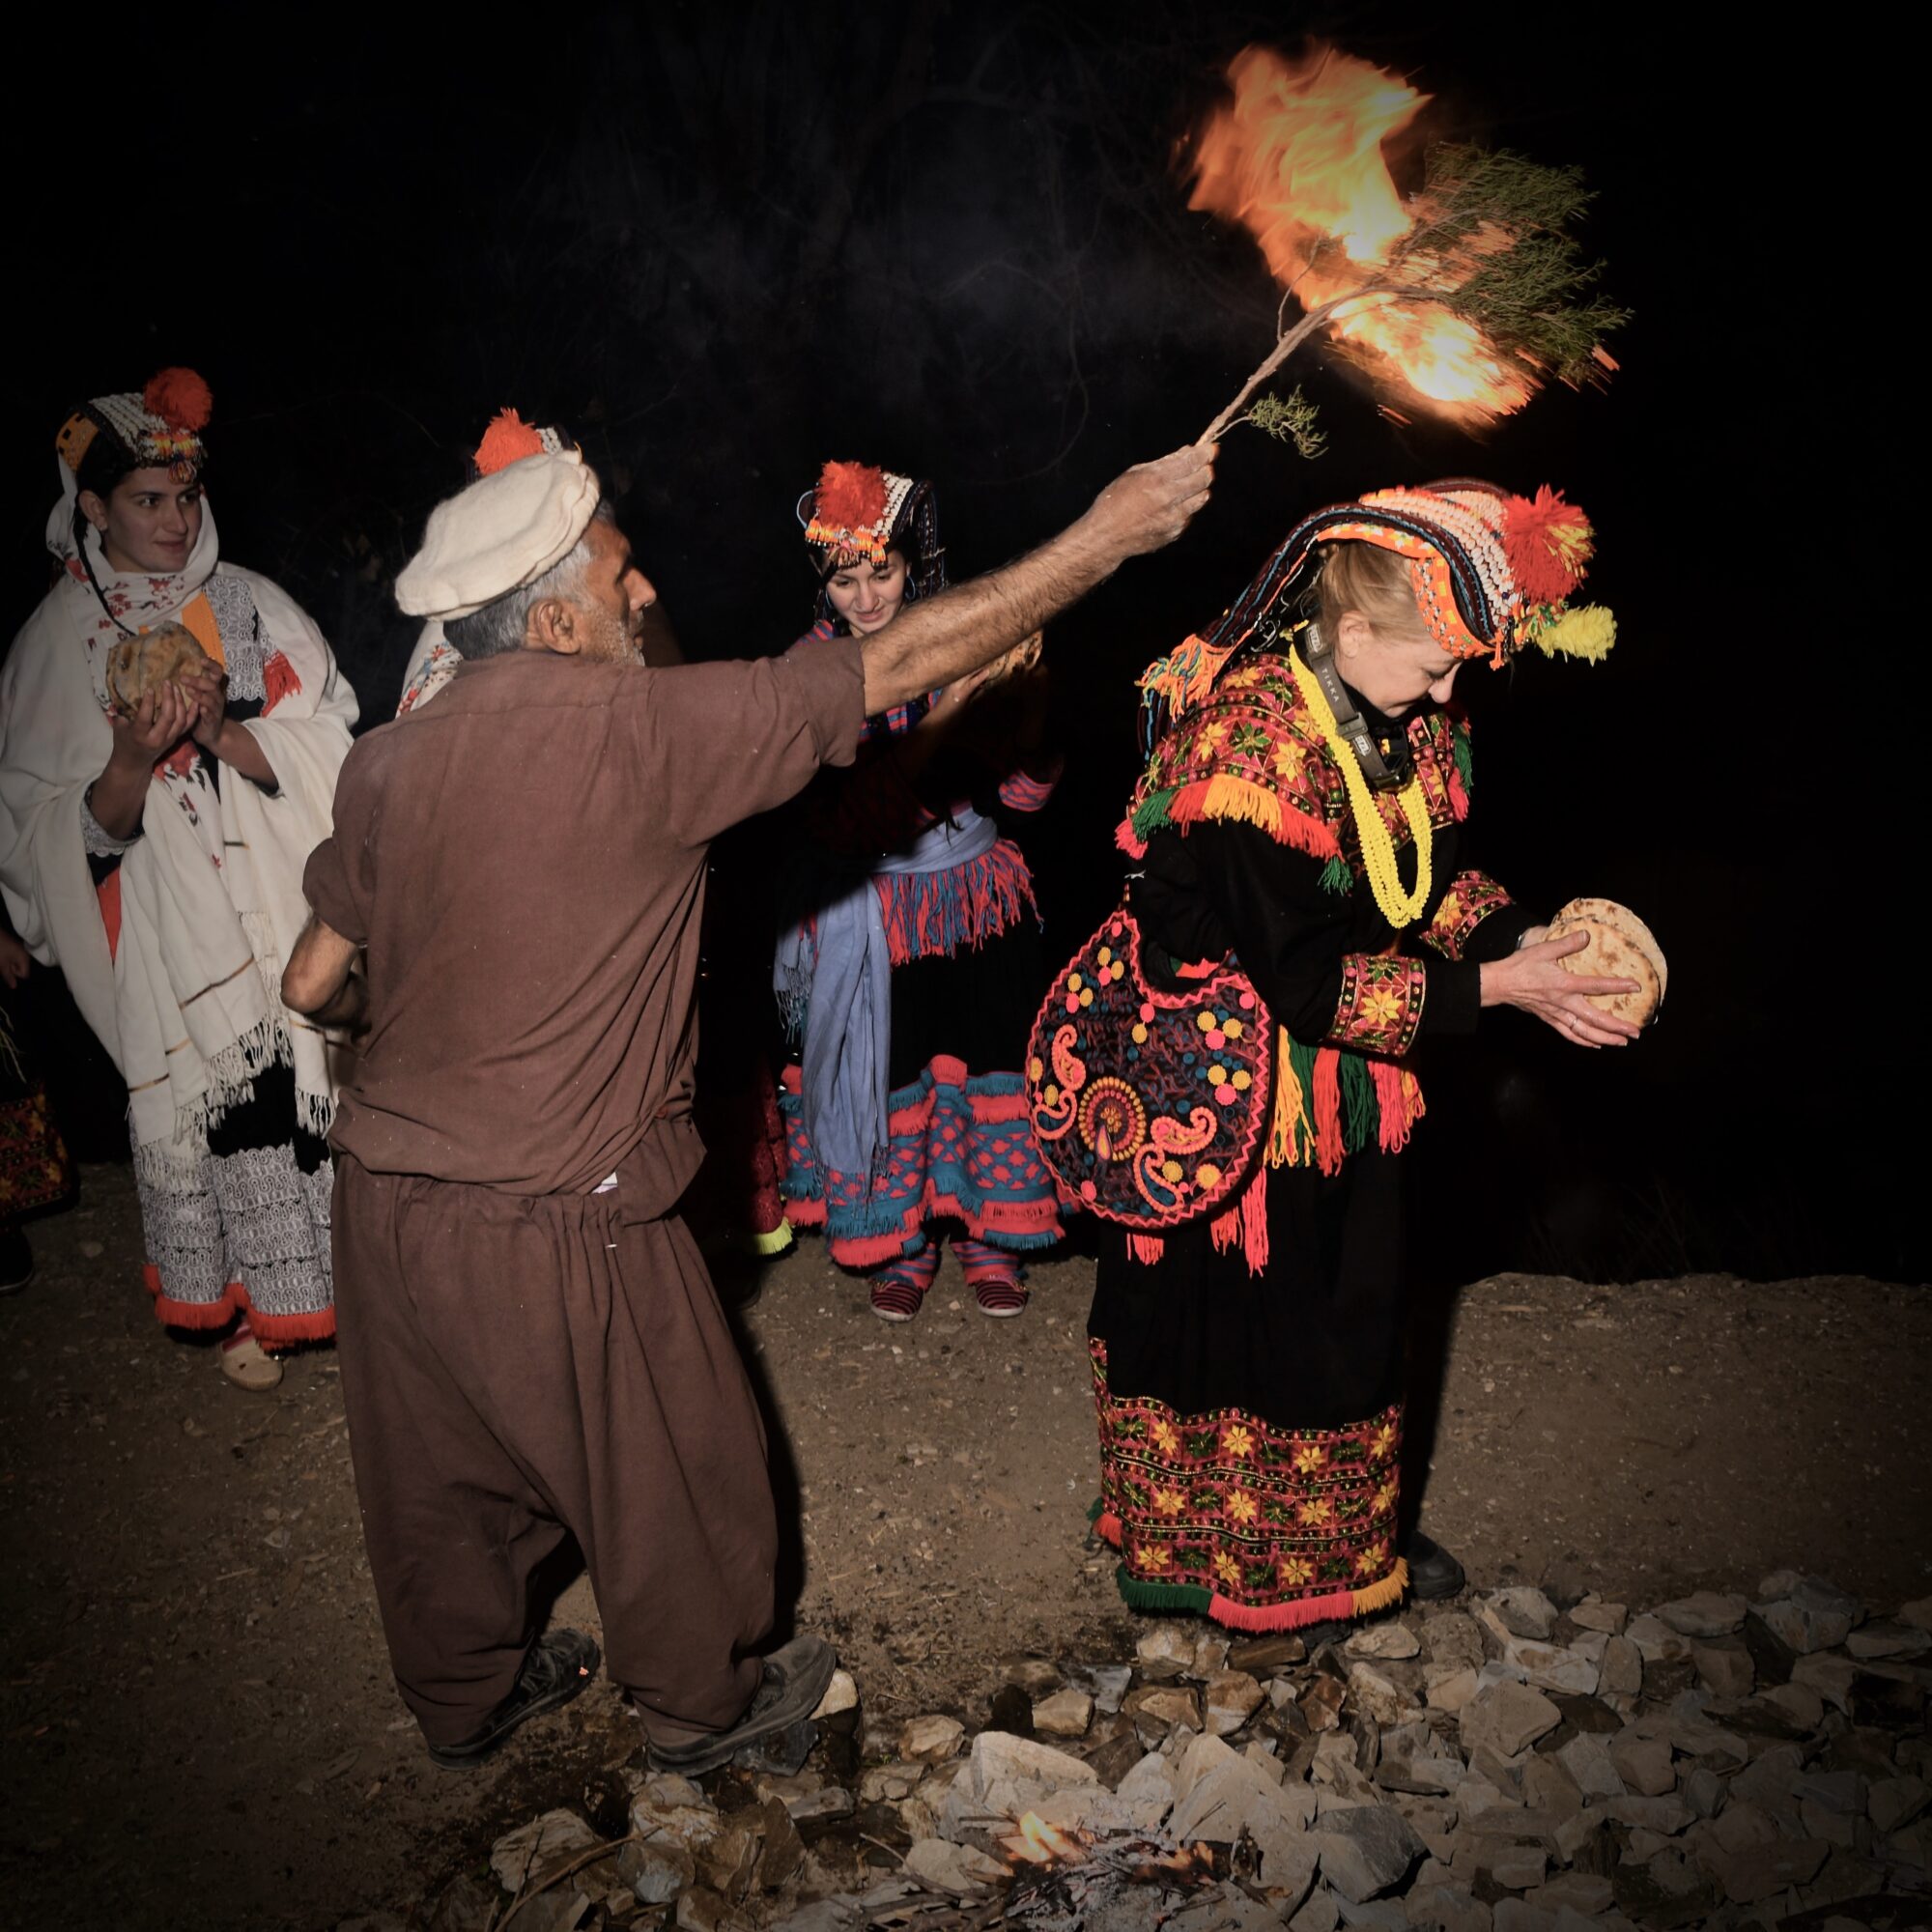
[[1252, 402], [1316, 334], [1424, 408], [1488, 419], [1522, 408], [1546, 377], [1578, 384], [1615, 369], [1602, 338], [1627, 311], [1596, 290], [1602, 263], [1573, 224], [1590, 203], [1575, 168], [1507, 151], [1439, 145], [1403, 197], [1383, 158], [1428, 100], [1333, 48], [1302, 62], [1248, 48], [1233, 100], [1192, 156], [1190, 207], [1242, 222], [1300, 319], [1208, 425], [1238, 421], [1320, 454], [1314, 406]]

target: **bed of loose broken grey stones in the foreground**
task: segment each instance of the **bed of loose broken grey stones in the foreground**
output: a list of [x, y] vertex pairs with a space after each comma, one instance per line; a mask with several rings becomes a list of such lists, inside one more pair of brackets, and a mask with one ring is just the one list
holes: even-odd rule
[[1922, 1924], [1932, 1598], [1758, 1588], [1633, 1615], [1509, 1586], [1314, 1654], [1155, 1623], [1117, 1665], [1007, 1658], [970, 1748], [939, 1712], [864, 1719], [844, 1679], [823, 1770], [634, 1774], [618, 1837], [551, 1810], [429, 1926]]

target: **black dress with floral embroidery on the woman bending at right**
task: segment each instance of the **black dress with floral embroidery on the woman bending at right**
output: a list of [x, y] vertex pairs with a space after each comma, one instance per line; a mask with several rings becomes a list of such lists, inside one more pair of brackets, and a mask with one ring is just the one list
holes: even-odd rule
[[[1434, 891], [1403, 931], [1376, 902], [1347, 786], [1281, 657], [1235, 670], [1182, 719], [1122, 827], [1142, 848], [1130, 908], [1148, 983], [1180, 987], [1175, 966], [1233, 958], [1289, 1036], [1260, 1271], [1254, 1244], [1209, 1219], [1167, 1231], [1151, 1265], [1109, 1227], [1088, 1325], [1099, 1528], [1121, 1548], [1122, 1594], [1240, 1629], [1362, 1613], [1403, 1586], [1397, 1150], [1422, 1109], [1401, 1057], [1422, 1032], [1474, 1028], [1480, 962], [1530, 923], [1463, 869], [1463, 726], [1441, 711], [1362, 715], [1406, 736], [1430, 811]], [[1408, 827], [1393, 806], [1383, 821], [1401, 827], [1412, 891]]]

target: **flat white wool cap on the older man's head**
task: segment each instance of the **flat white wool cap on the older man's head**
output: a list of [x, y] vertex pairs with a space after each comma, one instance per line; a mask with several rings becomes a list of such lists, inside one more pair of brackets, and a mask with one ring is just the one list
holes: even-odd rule
[[471, 483], [431, 510], [396, 603], [448, 624], [533, 583], [578, 547], [599, 497], [597, 471], [576, 450], [526, 456]]

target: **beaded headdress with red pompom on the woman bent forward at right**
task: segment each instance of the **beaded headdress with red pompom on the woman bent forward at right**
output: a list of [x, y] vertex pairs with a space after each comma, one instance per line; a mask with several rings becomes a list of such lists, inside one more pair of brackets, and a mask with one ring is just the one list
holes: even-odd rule
[[1406, 558], [1416, 609], [1451, 657], [1503, 665], [1534, 643], [1596, 663], [1617, 641], [1617, 620], [1604, 605], [1569, 603], [1590, 568], [1596, 533], [1561, 491], [1546, 483], [1534, 497], [1511, 497], [1466, 477], [1372, 491], [1304, 516], [1219, 624], [1148, 668], [1142, 736], [1150, 744], [1242, 649], [1285, 645], [1329, 543], [1374, 543]]

